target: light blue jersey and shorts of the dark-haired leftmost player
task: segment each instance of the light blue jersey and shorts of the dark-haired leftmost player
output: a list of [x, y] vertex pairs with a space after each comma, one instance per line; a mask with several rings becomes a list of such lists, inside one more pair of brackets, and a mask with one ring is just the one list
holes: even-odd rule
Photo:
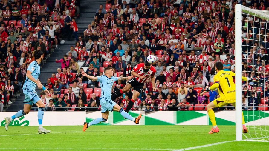
[[[40, 66], [37, 63], [37, 61], [31, 62], [27, 70], [32, 72], [31, 75], [33, 76], [33, 78], [35, 78], [36, 80], [38, 79], [40, 75]], [[36, 102], [40, 100], [39, 96], [37, 95], [35, 91], [36, 83], [31, 81], [27, 77], [23, 84], [22, 90], [25, 95], [23, 103], [33, 105], [33, 104], [36, 104]]]

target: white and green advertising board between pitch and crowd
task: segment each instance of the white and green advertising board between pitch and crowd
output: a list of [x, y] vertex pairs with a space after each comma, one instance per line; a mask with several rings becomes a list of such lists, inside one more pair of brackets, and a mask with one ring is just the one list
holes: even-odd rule
[[[269, 125], [269, 111], [243, 111], [247, 125]], [[4, 126], [5, 117], [10, 117], [16, 112], [1, 112], [1, 126]], [[38, 126], [38, 112], [17, 118], [11, 122], [12, 126]], [[129, 112], [133, 117], [142, 114], [138, 125], [211, 125], [207, 111], [135, 111]], [[218, 125], [235, 125], [235, 111], [218, 111], [215, 113]], [[85, 121], [90, 122], [100, 118], [101, 112], [45, 112], [44, 126], [73, 126], [82, 125]], [[110, 112], [106, 122], [99, 125], [137, 125], [124, 119], [118, 112]]]

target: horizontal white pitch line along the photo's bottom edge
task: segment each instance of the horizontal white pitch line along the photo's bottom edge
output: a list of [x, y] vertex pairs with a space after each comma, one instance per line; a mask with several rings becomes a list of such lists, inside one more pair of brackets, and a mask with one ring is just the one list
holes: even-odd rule
[[161, 148], [0, 148], [0, 150], [173, 150]]

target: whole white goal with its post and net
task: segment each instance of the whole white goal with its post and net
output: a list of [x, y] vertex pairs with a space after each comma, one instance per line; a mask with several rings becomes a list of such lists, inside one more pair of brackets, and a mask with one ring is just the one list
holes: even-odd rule
[[[239, 51], [239, 50], [242, 51]], [[269, 11], [235, 7], [236, 140], [269, 141]], [[241, 75], [241, 76], [240, 76]], [[254, 82], [241, 82], [241, 77]], [[237, 92], [242, 93], [237, 93]], [[242, 114], [248, 133], [242, 133]]]

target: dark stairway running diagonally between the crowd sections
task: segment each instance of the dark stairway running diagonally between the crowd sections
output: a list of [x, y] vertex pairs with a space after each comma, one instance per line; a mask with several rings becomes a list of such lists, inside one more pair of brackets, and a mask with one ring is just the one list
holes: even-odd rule
[[[100, 4], [103, 4], [105, 7], [106, 0], [81, 0], [80, 18], [76, 19], [79, 28], [78, 35], [81, 35], [83, 31], [88, 28], [88, 24], [91, 24], [91, 21], [93, 21], [96, 10], [99, 8]], [[47, 78], [51, 77], [52, 73], [57, 73], [57, 68], [61, 67], [61, 63], [56, 63], [55, 59], [59, 60], [63, 58], [63, 56], [70, 50], [70, 46], [75, 46], [76, 42], [77, 41], [74, 38], [71, 41], [65, 40], [65, 44], [59, 44], [59, 50], [54, 50], [54, 52], [51, 53], [50, 58], [47, 58], [46, 62], [41, 68], [39, 80], [42, 84], [45, 84], [47, 82]], [[40, 94], [41, 90], [36, 87], [36, 92], [37, 94]], [[12, 112], [22, 110], [24, 98], [25, 96], [20, 94], [18, 98], [16, 98], [16, 101], [13, 101], [13, 104], [10, 105], [7, 111]]]

